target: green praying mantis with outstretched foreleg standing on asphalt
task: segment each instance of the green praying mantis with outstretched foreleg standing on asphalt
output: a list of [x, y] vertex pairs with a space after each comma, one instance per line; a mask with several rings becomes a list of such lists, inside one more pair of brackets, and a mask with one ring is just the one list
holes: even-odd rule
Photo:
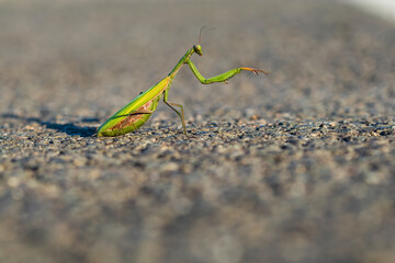
[[[170, 85], [178, 71], [185, 64], [190, 66], [192, 72], [202, 84], [211, 84], [215, 82], [227, 83], [226, 80], [230, 79], [232, 77], [234, 77], [235, 75], [239, 73], [242, 70], [251, 71], [255, 75], [258, 75], [258, 72], [266, 75], [268, 73], [267, 71], [260, 69], [240, 67], [240, 68], [232, 69], [225, 73], [212, 77], [210, 79], [205, 79], [198, 71], [195, 65], [190, 59], [194, 53], [198, 54], [199, 56], [203, 55], [201, 47], [201, 39], [202, 39], [202, 31], [204, 27], [205, 26], [203, 26], [200, 31], [198, 45], [194, 45], [191, 49], [189, 49], [185, 53], [185, 55], [180, 59], [180, 61], [170, 71], [170, 73], [165, 79], [160, 80], [158, 83], [156, 83], [150, 89], [148, 89], [147, 91], [142, 92], [138, 96], [136, 96], [128, 104], [126, 104], [114, 115], [112, 115], [108, 121], [105, 121], [97, 132], [98, 137], [117, 136], [136, 130], [148, 121], [150, 115], [157, 108], [159, 100], [161, 98], [163, 98], [165, 104], [168, 105], [180, 116], [183, 133], [188, 137], [183, 106], [181, 104], [177, 104], [168, 101]], [[181, 113], [178, 110], [176, 110], [174, 106], [180, 107]]]

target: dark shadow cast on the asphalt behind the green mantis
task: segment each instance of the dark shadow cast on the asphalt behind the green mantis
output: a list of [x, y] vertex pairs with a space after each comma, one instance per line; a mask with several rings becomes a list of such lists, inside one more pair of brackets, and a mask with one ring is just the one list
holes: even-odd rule
[[3, 118], [13, 118], [19, 119], [25, 123], [37, 123], [42, 126], [45, 126], [50, 129], [55, 129], [59, 133], [65, 133], [70, 136], [80, 136], [80, 137], [91, 137], [95, 134], [97, 129], [94, 127], [81, 127], [76, 125], [76, 123], [95, 123], [99, 122], [98, 118], [82, 118], [80, 122], [75, 123], [66, 123], [66, 124], [57, 124], [50, 121], [43, 121], [37, 117], [22, 117], [12, 113], [2, 114]]

